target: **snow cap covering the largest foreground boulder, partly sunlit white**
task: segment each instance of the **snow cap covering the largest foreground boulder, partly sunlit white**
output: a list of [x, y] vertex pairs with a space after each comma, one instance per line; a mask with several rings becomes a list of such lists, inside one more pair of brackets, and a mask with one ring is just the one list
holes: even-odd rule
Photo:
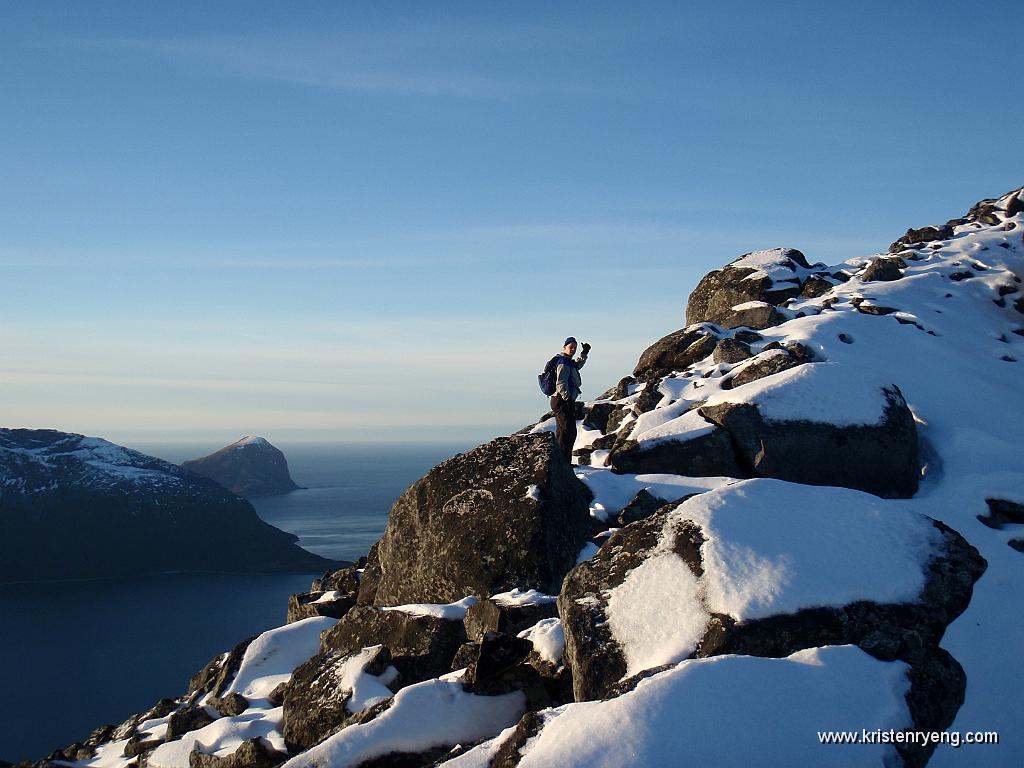
[[[700, 578], [673, 552], [683, 520], [706, 540]], [[928, 518], [869, 494], [743, 480], [667, 516], [656, 552], [611, 590], [608, 624], [630, 676], [692, 653], [711, 613], [743, 622], [857, 600], [914, 602], [941, 541]]]

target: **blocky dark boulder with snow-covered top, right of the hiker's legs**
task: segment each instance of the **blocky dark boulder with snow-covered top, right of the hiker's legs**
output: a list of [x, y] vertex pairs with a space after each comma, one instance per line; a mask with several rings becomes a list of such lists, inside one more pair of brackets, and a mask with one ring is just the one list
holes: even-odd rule
[[744, 476], [911, 497], [921, 475], [913, 415], [899, 387], [856, 375], [800, 366], [716, 395], [699, 414], [729, 433]]

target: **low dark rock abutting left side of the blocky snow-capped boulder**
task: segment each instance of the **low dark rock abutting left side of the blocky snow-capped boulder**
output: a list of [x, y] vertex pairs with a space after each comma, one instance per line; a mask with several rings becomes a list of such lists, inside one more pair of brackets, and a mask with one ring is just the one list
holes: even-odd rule
[[725, 429], [712, 429], [689, 439], [626, 440], [609, 457], [615, 472], [666, 472], [692, 477], [746, 477]]

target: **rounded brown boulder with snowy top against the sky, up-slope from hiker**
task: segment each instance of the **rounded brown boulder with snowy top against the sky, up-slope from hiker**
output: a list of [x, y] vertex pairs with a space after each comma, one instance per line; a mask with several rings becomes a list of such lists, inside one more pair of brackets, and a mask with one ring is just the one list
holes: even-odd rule
[[[686, 323], [715, 323], [724, 328], [751, 326], [751, 322], [742, 321], [759, 321], [752, 319], [753, 315], [737, 317], [733, 307], [748, 302], [764, 302], [769, 309], [778, 306], [800, 295], [810, 270], [804, 254], [793, 248], [744, 254], [724, 268], [709, 272], [697, 284], [686, 304]], [[772, 321], [768, 325], [777, 325], [770, 312], [763, 314], [762, 319]]]

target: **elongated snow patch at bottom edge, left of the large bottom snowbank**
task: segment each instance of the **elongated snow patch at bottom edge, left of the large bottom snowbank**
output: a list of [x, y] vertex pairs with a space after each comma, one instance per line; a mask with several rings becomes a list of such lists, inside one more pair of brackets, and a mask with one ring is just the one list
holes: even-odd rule
[[346, 768], [392, 752], [419, 753], [497, 735], [525, 709], [521, 691], [479, 696], [463, 690], [455, 675], [402, 688], [391, 707], [350, 725], [285, 763], [286, 768]]

